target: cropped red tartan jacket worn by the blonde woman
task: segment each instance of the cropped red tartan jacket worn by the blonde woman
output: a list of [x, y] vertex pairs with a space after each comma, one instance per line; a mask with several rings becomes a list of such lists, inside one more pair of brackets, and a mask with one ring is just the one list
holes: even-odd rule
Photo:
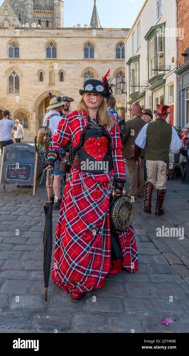
[[[122, 156], [122, 143], [119, 132], [119, 125], [115, 118], [114, 126], [104, 126], [104, 129], [109, 134], [111, 140], [111, 154], [114, 161], [114, 170], [116, 174], [116, 180], [125, 182], [125, 163]], [[49, 146], [49, 151], [60, 152], [61, 146], [65, 146], [66, 143], [72, 141], [73, 150], [77, 150], [82, 140], [81, 133], [86, 126], [89, 125], [86, 111], [82, 111], [82, 115], [77, 110], [72, 111], [67, 117], [63, 118], [59, 124], [57, 132], [54, 133]]]

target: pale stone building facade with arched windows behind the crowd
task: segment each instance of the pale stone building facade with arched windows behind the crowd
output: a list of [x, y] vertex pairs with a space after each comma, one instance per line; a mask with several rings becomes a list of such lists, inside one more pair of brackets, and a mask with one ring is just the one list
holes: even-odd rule
[[[92, 24], [93, 20], [91, 19]], [[87, 26], [87, 27], [86, 27]], [[89, 78], [101, 79], [110, 68], [114, 95], [125, 106], [120, 82], [125, 81], [124, 40], [129, 29], [1, 27], [0, 77], [2, 111], [9, 109], [20, 120], [24, 137], [33, 140], [42, 125], [53, 96], [74, 98], [77, 109], [79, 89]]]

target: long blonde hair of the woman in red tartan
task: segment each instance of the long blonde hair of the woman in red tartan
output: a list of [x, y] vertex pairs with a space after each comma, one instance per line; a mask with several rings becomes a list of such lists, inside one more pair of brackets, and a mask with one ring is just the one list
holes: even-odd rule
[[[88, 108], [83, 100], [83, 96], [79, 102], [78, 111], [80, 115], [82, 115], [82, 111], [86, 111], [87, 115], [89, 115]], [[99, 115], [99, 123], [101, 126], [109, 126], [109, 127], [114, 126], [114, 120], [112, 119], [109, 112], [107, 111], [104, 98], [98, 108], [98, 115]]]

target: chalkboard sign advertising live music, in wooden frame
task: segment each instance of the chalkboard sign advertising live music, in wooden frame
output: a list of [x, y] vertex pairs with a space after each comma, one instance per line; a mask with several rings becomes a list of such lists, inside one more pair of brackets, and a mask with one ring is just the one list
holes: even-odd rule
[[35, 188], [36, 157], [35, 147], [28, 143], [12, 143], [3, 147], [0, 184], [33, 185]]

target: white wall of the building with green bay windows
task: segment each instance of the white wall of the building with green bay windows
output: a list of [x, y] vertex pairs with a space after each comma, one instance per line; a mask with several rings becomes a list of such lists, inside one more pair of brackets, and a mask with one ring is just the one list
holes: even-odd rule
[[[166, 79], [165, 90], [164, 90], [164, 104], [169, 105], [169, 98], [167, 94], [167, 85], [174, 82], [174, 126], [177, 124], [177, 112], [176, 112], [176, 74], [174, 70], [177, 67], [177, 37], [175, 36], [176, 28], [176, 14], [177, 7], [175, 0], [162, 0], [161, 1], [161, 17], [156, 21], [156, 2], [157, 0], [147, 0], [143, 4], [143, 9], [139, 13], [137, 19], [135, 20], [133, 28], [131, 28], [127, 38], [126, 38], [126, 63], [130, 57], [132, 57], [132, 47], [133, 47], [133, 32], [135, 32], [135, 54], [137, 56], [140, 54], [140, 83], [148, 80], [148, 45], [145, 40], [147, 32], [152, 26], [166, 23], [165, 25], [165, 36], [163, 41], [165, 41], [165, 64], [170, 66], [170, 73], [165, 72], [163, 79]], [[140, 21], [140, 47], [137, 48], [137, 24]], [[172, 30], [173, 29], [173, 30]], [[172, 57], [174, 61], [172, 62]], [[126, 87], [127, 87], [127, 108], [129, 108], [128, 102], [131, 100], [129, 97], [129, 66], [126, 65]], [[149, 85], [150, 87], [151, 85]], [[140, 94], [143, 89], [140, 88]], [[147, 89], [145, 92], [145, 108], [148, 108], [147, 97], [152, 93], [151, 90]], [[153, 108], [153, 110], [156, 108]], [[129, 118], [129, 113], [127, 110], [127, 120]]]

